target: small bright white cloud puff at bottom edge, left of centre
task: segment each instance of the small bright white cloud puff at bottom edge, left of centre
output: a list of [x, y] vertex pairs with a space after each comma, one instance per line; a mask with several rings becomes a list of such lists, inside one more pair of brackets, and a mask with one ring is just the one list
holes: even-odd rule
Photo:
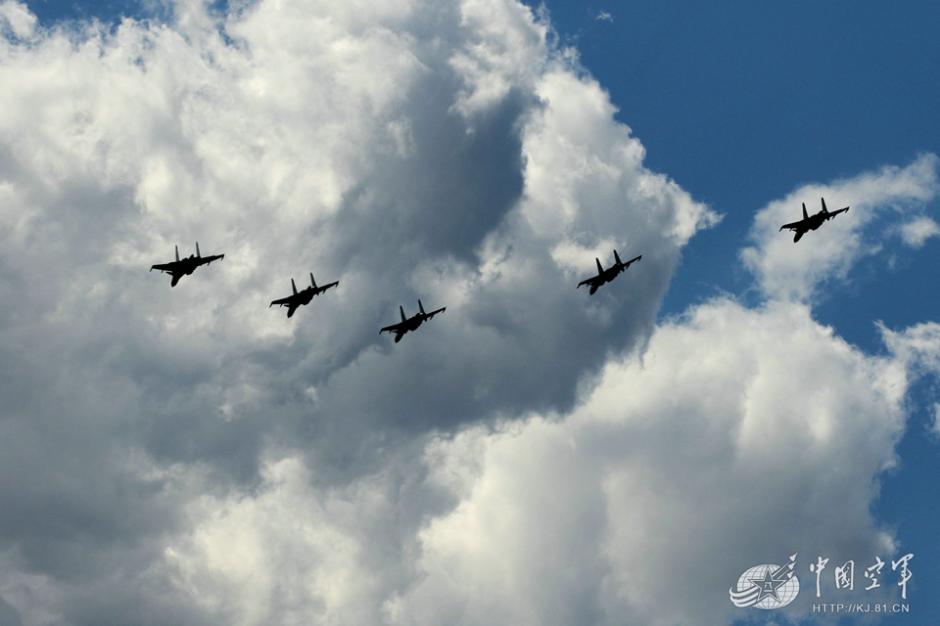
[[[375, 624], [402, 575], [379, 543], [395, 511], [382, 481], [317, 491], [302, 461], [264, 467], [254, 497], [206, 497], [191, 536], [167, 548], [180, 593], [227, 624]], [[389, 530], [390, 538], [394, 532]]]

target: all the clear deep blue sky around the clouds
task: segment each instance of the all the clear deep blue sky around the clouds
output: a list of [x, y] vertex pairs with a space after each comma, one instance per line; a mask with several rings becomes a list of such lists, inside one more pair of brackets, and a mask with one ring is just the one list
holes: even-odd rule
[[[28, 4], [47, 23], [144, 13], [127, 1]], [[940, 154], [936, 2], [546, 4], [559, 36], [578, 48], [642, 140], [647, 165], [725, 216], [685, 248], [662, 316], [721, 292], [758, 301], [738, 253], [754, 212], [770, 200]], [[601, 11], [612, 20], [598, 20]], [[887, 256], [863, 261], [815, 309], [867, 352], [883, 351], [876, 320], [902, 328], [937, 318], [940, 244], [899, 252], [890, 268]], [[900, 467], [885, 477], [876, 509], [916, 555], [916, 616], [897, 623], [940, 621], [940, 598], [930, 592], [940, 585], [940, 455], [928, 432], [937, 395], [930, 382], [915, 388]]]

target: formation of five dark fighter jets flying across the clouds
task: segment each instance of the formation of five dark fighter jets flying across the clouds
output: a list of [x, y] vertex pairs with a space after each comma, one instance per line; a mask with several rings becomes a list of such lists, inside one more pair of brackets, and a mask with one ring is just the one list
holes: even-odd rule
[[[796, 221], [796, 222], [792, 222], [790, 224], [784, 224], [783, 226], [780, 227], [780, 230], [781, 231], [783, 230], [794, 231], [795, 235], [793, 237], [793, 241], [794, 243], [796, 243], [807, 232], [818, 229], [820, 226], [822, 226], [824, 223], [831, 220], [835, 216], [839, 215], [840, 213], [845, 213], [846, 211], [849, 210], [849, 207], [845, 207], [845, 208], [839, 209], [838, 211], [830, 212], [826, 208], [825, 198], [820, 198], [820, 201], [822, 202], [822, 209], [819, 211], [819, 213], [809, 215], [806, 211], [806, 203], [803, 203], [803, 219]], [[197, 268], [202, 267], [203, 265], [209, 265], [213, 261], [218, 261], [218, 260], [225, 258], [224, 254], [214, 254], [214, 255], [205, 256], [205, 257], [202, 256], [202, 254], [199, 252], [198, 242], [196, 243], [196, 254], [191, 254], [184, 259], [180, 258], [179, 246], [175, 246], [174, 249], [176, 252], [175, 261], [170, 261], [169, 263], [157, 263], [151, 266], [150, 268], [151, 271], [159, 270], [161, 272], [165, 272], [169, 274], [172, 277], [172, 280], [170, 281], [171, 287], [175, 287], [176, 283], [179, 282], [180, 278], [182, 278], [183, 276], [189, 276], [194, 271], [196, 271]], [[581, 287], [587, 285], [589, 287], [588, 295], [593, 296], [595, 293], [597, 293], [598, 289], [600, 289], [602, 286], [606, 285], [607, 283], [612, 282], [614, 279], [617, 278], [617, 276], [619, 276], [621, 273], [626, 271], [627, 268], [629, 268], [632, 264], [636, 263], [642, 258], [643, 258], [643, 255], [637, 255], [633, 257], [632, 259], [630, 259], [629, 261], [624, 262], [620, 260], [620, 255], [617, 253], [616, 250], [614, 250], [614, 264], [608, 267], [607, 269], [604, 269], [604, 266], [601, 265], [601, 260], [599, 258], [595, 258], [594, 261], [597, 263], [597, 275], [591, 276], [590, 278], [586, 278], [582, 280], [581, 282], [578, 283], [577, 288], [580, 289]], [[325, 285], [318, 286], [317, 281], [313, 278], [313, 273], [311, 272], [309, 287], [305, 287], [304, 289], [297, 291], [297, 284], [294, 282], [293, 278], [291, 278], [290, 284], [291, 284], [291, 290], [293, 293], [283, 298], [272, 300], [271, 304], [268, 305], [269, 308], [275, 305], [279, 307], [287, 307], [288, 318], [293, 317], [298, 307], [310, 304], [314, 296], [318, 296], [321, 293], [324, 293], [325, 291], [327, 291], [328, 289], [331, 289], [339, 285], [339, 281], [334, 281], [332, 283], [327, 283]], [[404, 307], [399, 306], [398, 311], [401, 314], [401, 321], [396, 324], [390, 324], [388, 326], [385, 326], [384, 328], [379, 330], [379, 334], [381, 335], [382, 333], [392, 333], [395, 335], [395, 343], [398, 343], [399, 341], [401, 341], [402, 337], [404, 337], [407, 333], [418, 330], [418, 328], [420, 328], [421, 325], [424, 324], [426, 321], [432, 319], [435, 315], [439, 313], [443, 313], [446, 310], [447, 310], [447, 307], [441, 307], [439, 309], [436, 309], [428, 313], [424, 310], [424, 305], [421, 303], [421, 300], [418, 300], [418, 312], [412, 315], [411, 317], [407, 317], [405, 315]]]

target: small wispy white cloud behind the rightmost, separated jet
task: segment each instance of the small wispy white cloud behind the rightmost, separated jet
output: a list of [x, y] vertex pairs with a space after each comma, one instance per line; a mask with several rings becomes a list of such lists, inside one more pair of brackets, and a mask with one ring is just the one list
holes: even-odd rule
[[[920, 240], [924, 223], [912, 227], [909, 218], [921, 217], [940, 193], [938, 167], [940, 159], [925, 154], [905, 167], [886, 166], [829, 184], [800, 187], [757, 212], [749, 235], [752, 243], [742, 250], [741, 258], [768, 297], [810, 299], [826, 281], [845, 279], [860, 258], [877, 254], [884, 234], [902, 222], [909, 245], [916, 247], [917, 241], [930, 236], [927, 232]], [[829, 210], [844, 206], [851, 210], [810, 232], [799, 244], [789, 233], [778, 232], [781, 224], [800, 218], [801, 203], [810, 212], [818, 211], [821, 197]]]

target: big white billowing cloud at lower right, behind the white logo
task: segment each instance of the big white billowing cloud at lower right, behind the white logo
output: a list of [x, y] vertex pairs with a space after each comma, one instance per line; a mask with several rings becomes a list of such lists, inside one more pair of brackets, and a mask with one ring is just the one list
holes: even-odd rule
[[436, 474], [476, 478], [422, 532], [401, 623], [723, 623], [751, 564], [889, 553], [869, 507], [905, 388], [803, 306], [694, 309], [570, 416], [443, 445]]

